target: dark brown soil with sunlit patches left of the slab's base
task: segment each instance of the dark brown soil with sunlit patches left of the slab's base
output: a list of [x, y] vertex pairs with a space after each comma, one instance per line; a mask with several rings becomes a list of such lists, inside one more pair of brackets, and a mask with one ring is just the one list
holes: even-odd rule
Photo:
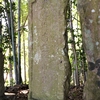
[[5, 95], [6, 100], [28, 100], [28, 85], [15, 85], [6, 87]]

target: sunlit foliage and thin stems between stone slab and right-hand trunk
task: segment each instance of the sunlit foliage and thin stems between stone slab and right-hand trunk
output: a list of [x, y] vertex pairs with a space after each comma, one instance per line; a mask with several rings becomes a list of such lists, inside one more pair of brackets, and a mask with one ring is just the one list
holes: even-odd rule
[[66, 16], [69, 58], [72, 66], [71, 84], [83, 85], [86, 81], [87, 62], [83, 48], [81, 22], [77, 11], [77, 0], [69, 0]]

